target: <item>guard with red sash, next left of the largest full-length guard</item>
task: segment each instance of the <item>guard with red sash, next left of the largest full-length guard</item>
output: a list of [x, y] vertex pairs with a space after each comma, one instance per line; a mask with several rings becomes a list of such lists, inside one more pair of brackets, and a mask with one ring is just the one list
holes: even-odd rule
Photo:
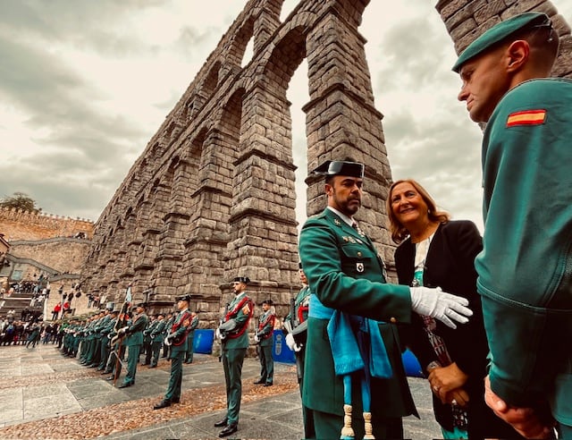
[[171, 403], [181, 402], [182, 362], [187, 353], [187, 335], [191, 320], [189, 302], [190, 295], [177, 298], [179, 314], [170, 329], [170, 333], [164, 338], [164, 343], [171, 346], [171, 377], [169, 377], [169, 385], [163, 400], [153, 407], [154, 410], [171, 406]]

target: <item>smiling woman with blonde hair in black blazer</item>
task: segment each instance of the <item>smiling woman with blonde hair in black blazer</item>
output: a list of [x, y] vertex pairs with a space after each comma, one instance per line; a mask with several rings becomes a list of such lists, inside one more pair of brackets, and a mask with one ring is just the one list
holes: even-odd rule
[[395, 251], [400, 284], [441, 287], [467, 298], [475, 312], [456, 329], [416, 315], [403, 334], [429, 379], [443, 437], [522, 438], [484, 403], [489, 348], [476, 292], [474, 261], [483, 244], [475, 224], [450, 220], [412, 179], [394, 182], [386, 204], [391, 239], [400, 244]]

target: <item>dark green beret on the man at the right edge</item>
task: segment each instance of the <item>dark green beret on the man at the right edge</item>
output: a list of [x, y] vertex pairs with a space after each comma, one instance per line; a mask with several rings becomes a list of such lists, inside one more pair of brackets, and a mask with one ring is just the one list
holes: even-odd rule
[[509, 20], [501, 21], [468, 45], [461, 55], [458, 56], [452, 70], [453, 72], [460, 71], [462, 65], [467, 63], [468, 60], [482, 54], [485, 50], [500, 43], [505, 38], [509, 38], [515, 32], [543, 27], [552, 27], [551, 19], [545, 13], [521, 13], [510, 17]]

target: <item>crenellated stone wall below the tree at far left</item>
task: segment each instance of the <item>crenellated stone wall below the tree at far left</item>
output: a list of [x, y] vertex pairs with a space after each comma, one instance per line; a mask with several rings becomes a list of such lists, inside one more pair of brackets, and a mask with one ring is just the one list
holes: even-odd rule
[[86, 219], [0, 207], [0, 233], [7, 241], [73, 237], [77, 233], [91, 238], [93, 228], [93, 222]]

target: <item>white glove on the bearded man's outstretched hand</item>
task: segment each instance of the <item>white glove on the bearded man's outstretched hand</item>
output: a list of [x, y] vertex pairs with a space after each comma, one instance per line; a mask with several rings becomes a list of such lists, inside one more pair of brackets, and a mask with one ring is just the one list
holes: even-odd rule
[[473, 315], [473, 311], [465, 307], [468, 306], [467, 298], [443, 292], [441, 287], [409, 287], [409, 292], [413, 311], [439, 319], [450, 328], [457, 328], [453, 320], [465, 324], [468, 317]]

